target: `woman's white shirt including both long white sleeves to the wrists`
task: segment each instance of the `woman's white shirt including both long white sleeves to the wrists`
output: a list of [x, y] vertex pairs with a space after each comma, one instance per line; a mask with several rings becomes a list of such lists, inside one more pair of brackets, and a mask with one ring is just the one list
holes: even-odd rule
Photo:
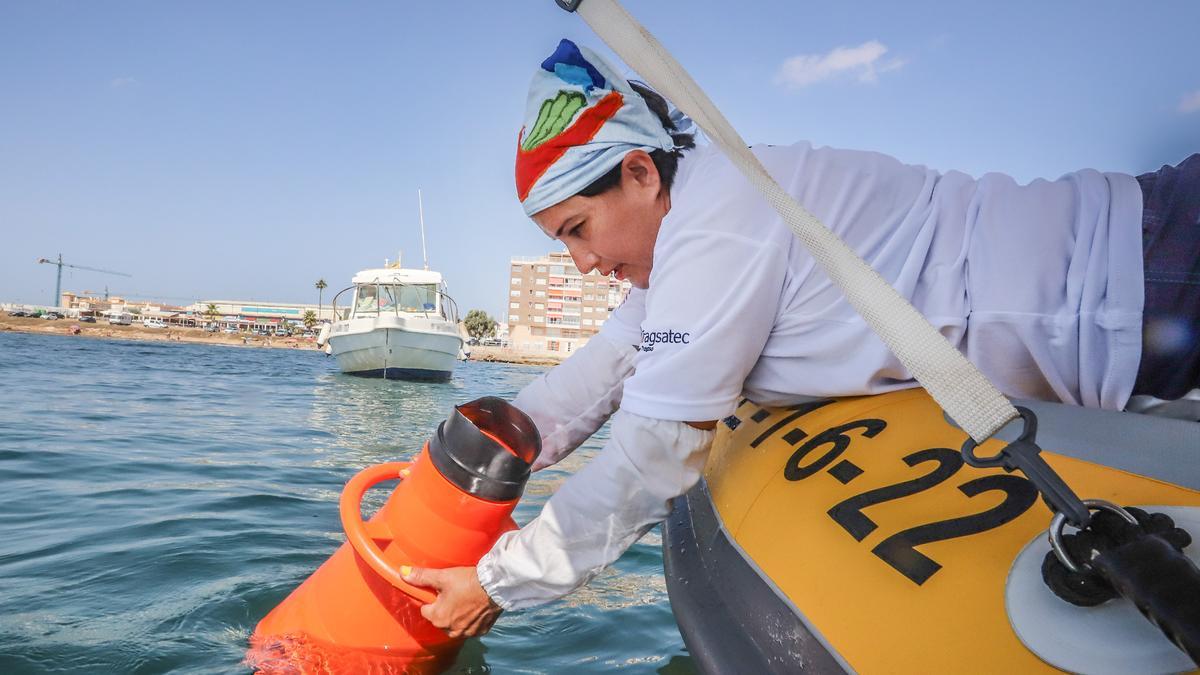
[[[755, 154], [1003, 393], [1124, 405], [1141, 351], [1133, 177], [1018, 185], [803, 143]], [[517, 398], [546, 425], [539, 467], [620, 413], [604, 450], [480, 561], [480, 581], [506, 609], [578, 587], [666, 516], [712, 440], [684, 420], [720, 419], [743, 395], [786, 405], [916, 386], [718, 150], [685, 155], [671, 197], [649, 288], [630, 293], [595, 348]]]

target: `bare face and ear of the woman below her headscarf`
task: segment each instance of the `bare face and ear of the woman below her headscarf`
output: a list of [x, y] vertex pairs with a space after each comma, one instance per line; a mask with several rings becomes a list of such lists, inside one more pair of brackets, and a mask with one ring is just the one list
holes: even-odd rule
[[634, 150], [622, 160], [620, 185], [595, 197], [571, 197], [534, 214], [533, 220], [551, 239], [566, 245], [580, 273], [598, 270], [647, 288], [654, 241], [662, 216], [671, 210], [671, 196], [660, 187], [654, 160]]

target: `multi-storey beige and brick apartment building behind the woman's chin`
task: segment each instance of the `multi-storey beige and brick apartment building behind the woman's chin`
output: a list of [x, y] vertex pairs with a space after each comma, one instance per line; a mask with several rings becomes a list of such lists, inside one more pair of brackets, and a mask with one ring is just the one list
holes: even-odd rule
[[566, 356], [600, 330], [629, 288], [628, 281], [580, 274], [566, 251], [512, 258], [509, 346]]

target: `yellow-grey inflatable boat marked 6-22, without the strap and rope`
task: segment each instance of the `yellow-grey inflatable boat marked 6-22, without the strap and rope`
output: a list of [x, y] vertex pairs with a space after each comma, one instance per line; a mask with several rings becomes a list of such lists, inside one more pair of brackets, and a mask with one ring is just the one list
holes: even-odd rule
[[[1081, 497], [1146, 506], [1200, 533], [1200, 424], [1025, 405], [1042, 456]], [[980, 454], [1013, 436], [1006, 428]], [[922, 389], [742, 401], [664, 524], [672, 609], [701, 669], [1195, 668], [1128, 601], [1056, 597], [1042, 577], [1054, 514], [1021, 474], [965, 464], [965, 440]], [[1198, 549], [1183, 552], [1195, 561]]]

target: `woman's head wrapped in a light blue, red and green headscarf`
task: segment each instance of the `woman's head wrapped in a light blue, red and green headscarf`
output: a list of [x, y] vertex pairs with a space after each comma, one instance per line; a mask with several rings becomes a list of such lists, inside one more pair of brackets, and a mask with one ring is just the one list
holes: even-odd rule
[[517, 196], [584, 274], [649, 283], [683, 151], [695, 147], [666, 100], [598, 55], [562, 41], [529, 91], [517, 148]]

